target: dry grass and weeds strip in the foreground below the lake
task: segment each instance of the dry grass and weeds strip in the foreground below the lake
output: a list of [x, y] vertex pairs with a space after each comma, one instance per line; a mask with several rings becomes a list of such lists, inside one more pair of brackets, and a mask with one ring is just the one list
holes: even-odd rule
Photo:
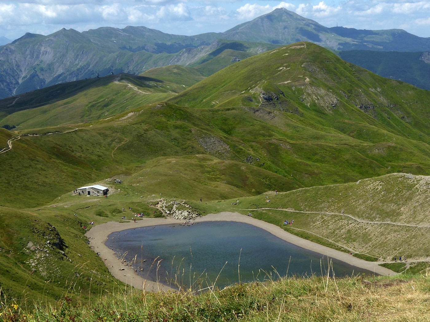
[[430, 321], [430, 276], [327, 276], [237, 284], [203, 294], [123, 290], [88, 303], [1, 303], [2, 321]]

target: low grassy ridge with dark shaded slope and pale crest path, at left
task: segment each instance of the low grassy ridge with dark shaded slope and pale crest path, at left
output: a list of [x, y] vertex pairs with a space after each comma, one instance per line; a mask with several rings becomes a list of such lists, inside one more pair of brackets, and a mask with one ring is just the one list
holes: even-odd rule
[[[28, 101], [25, 98], [22, 102], [24, 105], [19, 107], [22, 110], [6, 116], [0, 124], [13, 124], [17, 126], [16, 131], [18, 131], [42, 126], [90, 122], [117, 115], [136, 106], [165, 100], [184, 89], [179, 84], [163, 82], [151, 77], [123, 74], [102, 77], [89, 84], [87, 81], [77, 83], [54, 86], [72, 88], [71, 93], [66, 95], [67, 98], [64, 98], [61, 93], [55, 94], [58, 93], [55, 88], [26, 94], [32, 100], [40, 102], [37, 105], [42, 106], [25, 105]], [[44, 100], [45, 92], [55, 97], [49, 96], [54, 103]], [[16, 103], [20, 100], [21, 98]], [[9, 102], [9, 100], [3, 101], [6, 101], [5, 104]]]

